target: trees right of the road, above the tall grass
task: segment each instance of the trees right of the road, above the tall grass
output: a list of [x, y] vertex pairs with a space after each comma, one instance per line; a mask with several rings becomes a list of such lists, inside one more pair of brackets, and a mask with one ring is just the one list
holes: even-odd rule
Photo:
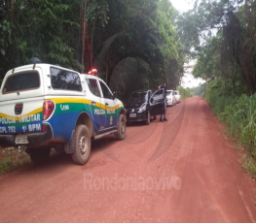
[[[194, 76], [222, 78], [233, 92], [256, 91], [256, 3], [240, 0], [202, 0], [179, 19], [179, 33], [198, 62]], [[243, 87], [244, 86], [244, 87]]]

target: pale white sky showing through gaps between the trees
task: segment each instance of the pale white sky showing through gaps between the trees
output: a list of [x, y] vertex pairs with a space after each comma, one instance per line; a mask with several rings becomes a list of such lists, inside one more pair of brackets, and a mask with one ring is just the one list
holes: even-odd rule
[[[195, 0], [170, 0], [170, 2], [177, 11], [184, 13], [193, 9]], [[190, 65], [193, 65], [193, 62]], [[204, 82], [204, 80], [195, 79], [191, 73], [192, 69], [188, 70], [188, 72], [184, 74], [184, 77], [181, 80], [181, 86], [185, 88], [195, 87]]]

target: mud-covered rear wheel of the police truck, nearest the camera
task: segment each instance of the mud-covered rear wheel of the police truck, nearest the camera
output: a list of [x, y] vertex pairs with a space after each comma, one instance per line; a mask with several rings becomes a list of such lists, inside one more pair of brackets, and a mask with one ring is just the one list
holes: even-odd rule
[[75, 148], [72, 159], [75, 164], [85, 165], [91, 153], [91, 136], [86, 125], [78, 125], [75, 132]]

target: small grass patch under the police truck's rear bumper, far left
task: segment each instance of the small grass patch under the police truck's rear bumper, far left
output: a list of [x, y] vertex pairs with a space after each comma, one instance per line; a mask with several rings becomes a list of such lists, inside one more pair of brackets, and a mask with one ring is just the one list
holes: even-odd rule
[[0, 175], [10, 173], [30, 161], [29, 155], [16, 148], [0, 147]]

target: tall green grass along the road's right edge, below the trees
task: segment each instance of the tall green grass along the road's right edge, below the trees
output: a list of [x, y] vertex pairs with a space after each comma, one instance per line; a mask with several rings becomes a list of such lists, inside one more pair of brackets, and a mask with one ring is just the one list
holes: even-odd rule
[[[241, 151], [241, 166], [256, 177], [256, 95], [232, 94], [225, 82], [209, 84], [204, 99], [224, 125], [226, 134], [234, 139], [235, 149]], [[240, 149], [244, 148], [244, 149]]]

